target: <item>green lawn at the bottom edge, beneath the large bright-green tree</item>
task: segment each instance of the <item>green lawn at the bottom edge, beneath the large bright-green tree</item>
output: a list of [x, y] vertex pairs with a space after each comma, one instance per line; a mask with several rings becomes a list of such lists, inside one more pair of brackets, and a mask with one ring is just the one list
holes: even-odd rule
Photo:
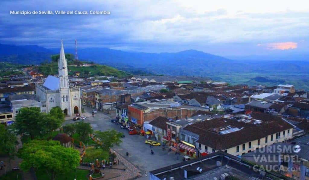
[[[72, 180], [76, 178], [76, 180], [87, 180], [88, 174], [89, 174], [89, 170], [75, 169], [75, 170], [72, 170], [70, 173], [61, 174], [61, 175], [56, 176], [56, 179]], [[50, 179], [44, 170], [37, 170], [36, 177], [38, 180], [49, 180]]]

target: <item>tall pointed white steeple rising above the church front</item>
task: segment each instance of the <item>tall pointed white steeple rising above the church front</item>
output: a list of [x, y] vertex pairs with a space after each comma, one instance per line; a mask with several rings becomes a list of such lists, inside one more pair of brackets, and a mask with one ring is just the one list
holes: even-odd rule
[[59, 80], [60, 80], [60, 88], [68, 88], [69, 87], [68, 67], [67, 67], [66, 56], [64, 53], [62, 39], [61, 39], [60, 55], [59, 55], [59, 60], [58, 60], [58, 73], [59, 73]]

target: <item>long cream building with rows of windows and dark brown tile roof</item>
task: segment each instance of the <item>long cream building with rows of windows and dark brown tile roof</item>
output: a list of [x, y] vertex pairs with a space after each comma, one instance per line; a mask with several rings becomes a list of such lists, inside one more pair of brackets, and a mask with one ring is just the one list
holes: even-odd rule
[[[217, 118], [188, 125], [180, 130], [180, 151], [206, 155], [216, 151], [241, 156], [257, 148], [291, 139], [293, 126], [280, 117], [252, 113], [237, 120]], [[184, 145], [181, 145], [184, 144]]]

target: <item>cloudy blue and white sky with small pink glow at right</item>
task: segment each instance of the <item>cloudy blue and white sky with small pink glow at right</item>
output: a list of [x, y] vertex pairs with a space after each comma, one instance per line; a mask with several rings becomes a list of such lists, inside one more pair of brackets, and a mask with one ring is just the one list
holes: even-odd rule
[[[108, 47], [125, 51], [196, 49], [217, 55], [309, 52], [305, 0], [1, 0], [0, 43]], [[17, 15], [51, 10], [54, 15]], [[56, 15], [55, 11], [110, 11], [109, 15]]]

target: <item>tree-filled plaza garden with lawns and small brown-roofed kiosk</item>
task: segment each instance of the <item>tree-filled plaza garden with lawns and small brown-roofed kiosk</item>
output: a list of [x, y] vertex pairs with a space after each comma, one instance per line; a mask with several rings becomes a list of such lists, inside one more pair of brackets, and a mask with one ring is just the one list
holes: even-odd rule
[[[33, 107], [21, 108], [14, 125], [0, 125], [0, 153], [9, 157], [3, 162], [6, 173], [0, 179], [21, 178], [25, 173], [38, 180], [104, 177], [104, 169], [117, 163], [110, 149], [122, 142], [122, 133], [112, 129], [94, 132], [83, 121], [61, 126], [63, 122], [60, 108], [42, 113]], [[19, 137], [22, 142], [18, 144]], [[11, 167], [17, 159], [18, 167]]]

